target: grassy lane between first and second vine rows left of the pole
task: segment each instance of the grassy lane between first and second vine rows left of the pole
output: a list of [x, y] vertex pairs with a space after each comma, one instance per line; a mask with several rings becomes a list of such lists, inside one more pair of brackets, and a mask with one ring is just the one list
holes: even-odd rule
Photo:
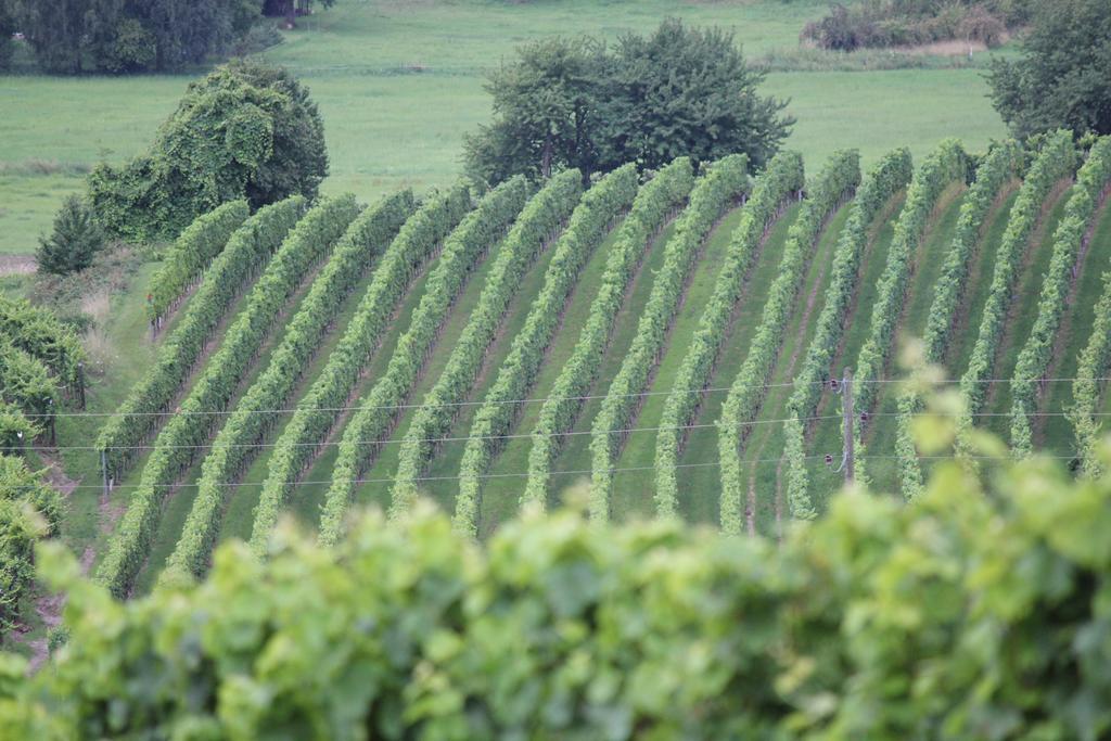
[[787, 402], [794, 390], [790, 383], [799, 370], [799, 364], [805, 358], [807, 348], [810, 347], [810, 340], [818, 324], [818, 317], [825, 306], [825, 288], [833, 274], [833, 252], [844, 222], [849, 219], [850, 207], [851, 203], [842, 204], [833, 218], [828, 220], [819, 237], [818, 247], [812, 252], [804, 282], [799, 290], [787, 332], [783, 334], [783, 344], [780, 346], [774, 370], [769, 377], [772, 387], [767, 390], [760, 412], [754, 420], [757, 424], [752, 425], [744, 443], [742, 472], [748, 484], [749, 505], [754, 505], [755, 527], [759, 532], [771, 534], [779, 530], [778, 521], [782, 517], [782, 501], [777, 487], [779, 465], [761, 461], [778, 458], [782, 453], [783, 440], [782, 422], [760, 422], [787, 417]]

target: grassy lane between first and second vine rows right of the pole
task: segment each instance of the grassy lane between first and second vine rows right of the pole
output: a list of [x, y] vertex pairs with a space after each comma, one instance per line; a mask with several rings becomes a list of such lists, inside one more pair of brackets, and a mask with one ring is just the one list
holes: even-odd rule
[[[961, 211], [961, 199], [967, 187], [963, 182], [949, 186], [938, 199], [925, 233], [919, 241], [914, 256], [913, 274], [903, 302], [902, 316], [895, 329], [894, 348], [891, 359], [881, 378], [893, 379], [902, 377], [899, 368], [899, 351], [908, 341], [921, 338], [925, 333], [925, 322], [933, 303], [934, 284], [941, 274], [945, 254], [953, 243], [957, 233], [957, 219]], [[895, 430], [899, 413], [899, 385], [881, 383], [875, 394], [875, 408], [870, 410], [870, 418], [864, 425], [862, 439], [868, 443], [865, 454], [875, 458], [868, 461], [868, 475], [875, 491], [898, 491], [898, 464], [890, 455], [894, 455]], [[837, 458], [837, 457], [834, 457]]]

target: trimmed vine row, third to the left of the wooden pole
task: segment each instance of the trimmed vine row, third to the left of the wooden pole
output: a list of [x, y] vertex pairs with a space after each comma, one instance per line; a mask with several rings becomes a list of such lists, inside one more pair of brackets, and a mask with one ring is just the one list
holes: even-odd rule
[[655, 510], [661, 517], [675, 513], [679, 497], [675, 465], [687, 437], [682, 428], [691, 423], [702, 403], [702, 394], [689, 391], [703, 389], [709, 383], [718, 353], [732, 328], [733, 310], [763, 239], [785, 201], [800, 193], [804, 186], [802, 156], [781, 151], [760, 173], [752, 196], [744, 202], [741, 222], [733, 230], [724, 262], [719, 267], [713, 293], [679, 367], [674, 389], [663, 405], [661, 429], [655, 438]]

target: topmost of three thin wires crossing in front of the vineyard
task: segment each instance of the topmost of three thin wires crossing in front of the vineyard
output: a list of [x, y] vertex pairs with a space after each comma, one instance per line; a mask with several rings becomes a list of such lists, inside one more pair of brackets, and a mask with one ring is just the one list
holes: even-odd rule
[[[838, 379], [833, 379], [838, 380]], [[898, 379], [853, 379], [853, 384], [860, 383], [907, 383], [910, 379], [898, 378]], [[1074, 381], [1111, 381], [1111, 377], [1095, 377], [1095, 378], [1031, 378], [1031, 379], [1013, 379], [1013, 378], [985, 378], [977, 381], [971, 381], [972, 383], [1065, 383]], [[931, 381], [932, 384], [954, 384], [961, 383], [961, 379], [943, 379], [940, 381]], [[809, 381], [802, 385], [827, 385], [829, 381]], [[750, 383], [745, 384], [747, 388], [752, 389], [780, 389], [787, 387], [799, 385], [795, 381], [785, 381], [783, 383]], [[733, 387], [720, 387], [710, 389], [669, 389], [665, 391], [641, 391], [638, 393], [623, 393], [614, 394], [614, 398], [635, 398], [635, 397], [660, 397], [668, 395], [672, 393], [725, 393], [730, 391]], [[740, 387], [739, 387], [740, 388]], [[366, 411], [372, 409], [420, 409], [422, 407], [482, 407], [487, 403], [492, 404], [534, 404], [544, 401], [591, 401], [595, 399], [605, 399], [608, 394], [587, 394], [581, 397], [537, 397], [533, 399], [506, 399], [502, 401], [451, 401], [443, 402], [439, 404], [423, 404], [423, 403], [407, 403], [407, 404], [381, 404], [381, 405], [351, 405], [351, 407], [288, 407], [284, 409], [250, 409], [243, 411], [231, 410], [202, 410], [202, 411], [182, 411], [173, 410], [166, 412], [128, 412], [129, 417], [187, 417], [187, 415], [198, 415], [198, 414], [211, 414], [211, 415], [231, 415], [231, 414], [292, 414], [293, 412], [347, 412], [347, 411]], [[23, 417], [34, 419], [34, 418], [83, 418], [83, 417], [116, 417], [119, 412], [57, 412], [57, 413], [31, 413], [23, 414]]]

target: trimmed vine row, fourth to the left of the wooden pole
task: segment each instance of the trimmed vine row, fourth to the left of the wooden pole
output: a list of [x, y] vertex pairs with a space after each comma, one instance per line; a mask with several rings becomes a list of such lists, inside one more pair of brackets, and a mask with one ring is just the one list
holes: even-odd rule
[[648, 385], [663, 353], [668, 332], [707, 234], [729, 206], [744, 198], [751, 189], [748, 166], [744, 154], [730, 154], [712, 163], [694, 184], [690, 203], [668, 241], [663, 264], [655, 273], [632, 344], [591, 427], [590, 514], [594, 519], [609, 519], [612, 469], [625, 440], [620, 430], [628, 427], [641, 405], [641, 397], [637, 394]]

